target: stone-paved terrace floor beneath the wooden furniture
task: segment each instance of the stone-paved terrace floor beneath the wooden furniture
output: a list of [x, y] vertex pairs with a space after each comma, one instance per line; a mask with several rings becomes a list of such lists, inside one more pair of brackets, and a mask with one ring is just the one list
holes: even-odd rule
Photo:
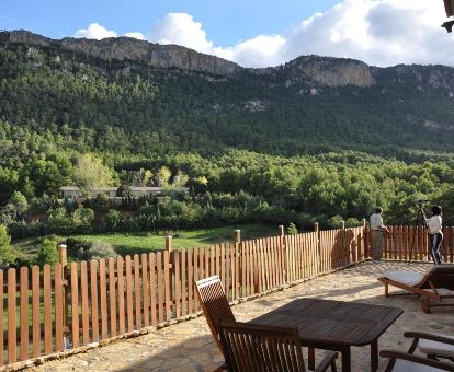
[[[365, 263], [282, 291], [240, 303], [232, 307], [239, 321], [249, 321], [298, 298], [361, 301], [401, 307], [405, 312], [379, 338], [378, 348], [407, 350], [410, 341], [405, 330], [446, 333], [454, 335], [453, 307], [435, 307], [432, 314], [420, 310], [416, 297], [385, 299], [376, 278], [385, 270], [424, 271], [428, 265], [401, 263]], [[306, 354], [306, 353], [305, 353]], [[317, 359], [322, 351], [317, 351]], [[61, 360], [48, 361], [30, 371], [213, 371], [223, 357], [213, 341], [203, 316], [148, 335], [121, 339], [104, 347]], [[379, 360], [381, 370], [385, 361]], [[340, 360], [338, 360], [340, 370]], [[352, 370], [370, 370], [370, 347], [352, 348]]]

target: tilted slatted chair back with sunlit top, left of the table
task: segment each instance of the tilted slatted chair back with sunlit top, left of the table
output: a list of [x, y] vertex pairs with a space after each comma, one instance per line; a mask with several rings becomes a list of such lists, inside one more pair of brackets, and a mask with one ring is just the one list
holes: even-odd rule
[[219, 340], [219, 322], [235, 322], [235, 315], [228, 304], [219, 277], [216, 275], [198, 280], [195, 282], [195, 288], [213, 337], [224, 353], [223, 345]]

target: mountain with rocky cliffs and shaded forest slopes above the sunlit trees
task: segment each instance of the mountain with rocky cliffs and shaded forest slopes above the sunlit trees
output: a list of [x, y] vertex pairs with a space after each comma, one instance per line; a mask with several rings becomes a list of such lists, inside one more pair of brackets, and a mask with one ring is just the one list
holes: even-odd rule
[[20, 128], [27, 141], [49, 132], [113, 156], [454, 150], [454, 69], [444, 66], [303, 56], [249, 69], [174, 45], [26, 31], [0, 33], [0, 141]]

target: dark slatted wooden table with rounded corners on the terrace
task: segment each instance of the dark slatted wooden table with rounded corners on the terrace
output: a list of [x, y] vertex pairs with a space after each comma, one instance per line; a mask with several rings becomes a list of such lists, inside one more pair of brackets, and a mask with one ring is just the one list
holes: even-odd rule
[[[352, 346], [371, 345], [371, 371], [376, 371], [378, 337], [402, 312], [401, 309], [367, 303], [299, 299], [249, 323], [297, 327], [304, 346], [340, 351], [342, 372], [351, 371]], [[310, 351], [309, 369], [314, 370], [314, 353]]]

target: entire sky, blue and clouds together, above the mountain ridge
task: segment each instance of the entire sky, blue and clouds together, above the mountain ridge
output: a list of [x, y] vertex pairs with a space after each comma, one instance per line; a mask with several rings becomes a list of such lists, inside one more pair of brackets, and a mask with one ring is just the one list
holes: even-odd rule
[[50, 37], [129, 36], [243, 67], [302, 55], [373, 66], [454, 66], [442, 0], [0, 0], [0, 30]]

